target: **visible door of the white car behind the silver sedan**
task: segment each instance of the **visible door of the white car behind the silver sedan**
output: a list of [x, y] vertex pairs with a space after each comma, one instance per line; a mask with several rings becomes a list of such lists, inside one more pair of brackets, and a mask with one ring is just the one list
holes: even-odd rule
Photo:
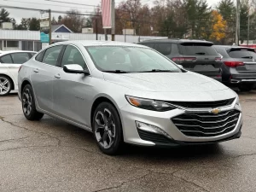
[[18, 84], [18, 71], [20, 66], [26, 61], [30, 60], [31, 55], [26, 52], [12, 53], [10, 54], [13, 60], [13, 63], [9, 65], [9, 73], [12, 75], [12, 78], [15, 81], [15, 84]]

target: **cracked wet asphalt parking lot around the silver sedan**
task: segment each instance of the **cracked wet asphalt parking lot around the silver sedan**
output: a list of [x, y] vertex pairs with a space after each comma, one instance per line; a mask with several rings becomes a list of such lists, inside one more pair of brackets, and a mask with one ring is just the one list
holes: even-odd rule
[[256, 191], [256, 91], [239, 93], [241, 138], [182, 148], [125, 147], [108, 156], [90, 132], [25, 119], [0, 98], [0, 191]]

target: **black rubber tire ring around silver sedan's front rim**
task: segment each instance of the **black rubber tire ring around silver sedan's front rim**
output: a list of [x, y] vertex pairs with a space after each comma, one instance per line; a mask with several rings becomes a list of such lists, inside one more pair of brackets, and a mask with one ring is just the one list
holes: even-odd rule
[[[96, 113], [98, 111], [102, 111], [102, 109], [104, 108], [108, 108], [108, 110], [113, 114], [113, 119], [115, 122], [115, 133], [116, 133], [116, 137], [114, 138], [114, 143], [110, 148], [102, 148], [102, 146], [100, 145], [100, 143], [97, 142], [96, 140], [96, 134], [95, 134], [95, 118], [96, 118]], [[93, 121], [92, 121], [92, 131], [93, 131], [93, 136], [95, 137], [96, 143], [98, 145], [98, 147], [102, 150], [102, 152], [104, 154], [118, 154], [119, 149], [122, 147], [123, 143], [124, 143], [124, 137], [123, 137], [123, 129], [122, 129], [122, 124], [121, 124], [121, 120], [119, 117], [119, 113], [116, 110], [116, 108], [113, 107], [113, 104], [109, 103], [109, 102], [102, 102], [101, 104], [99, 104], [95, 110], [95, 113], [93, 115]]]

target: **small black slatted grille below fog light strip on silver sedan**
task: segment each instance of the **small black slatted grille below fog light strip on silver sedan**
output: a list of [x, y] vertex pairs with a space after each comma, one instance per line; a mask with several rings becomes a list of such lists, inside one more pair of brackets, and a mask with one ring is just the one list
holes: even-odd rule
[[154, 142], [154, 143], [170, 143], [170, 139], [160, 134], [156, 134], [153, 132], [143, 131], [137, 129], [139, 137], [145, 141]]

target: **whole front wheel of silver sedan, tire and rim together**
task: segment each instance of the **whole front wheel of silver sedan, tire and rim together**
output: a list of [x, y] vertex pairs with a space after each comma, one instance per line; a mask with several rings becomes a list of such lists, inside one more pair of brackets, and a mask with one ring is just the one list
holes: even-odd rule
[[100, 103], [93, 115], [92, 131], [104, 154], [119, 154], [124, 144], [119, 113], [109, 102]]

